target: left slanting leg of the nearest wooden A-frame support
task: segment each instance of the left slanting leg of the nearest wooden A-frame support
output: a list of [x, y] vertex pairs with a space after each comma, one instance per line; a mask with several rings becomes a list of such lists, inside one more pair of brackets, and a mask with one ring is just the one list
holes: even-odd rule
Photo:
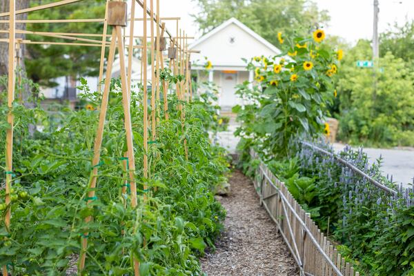
[[[116, 30], [114, 28], [112, 30], [112, 41], [110, 43], [110, 48], [109, 48], [108, 66], [106, 68], [105, 87], [103, 88], [101, 110], [99, 112], [99, 124], [98, 124], [98, 129], [97, 129], [97, 137], [95, 137], [94, 155], [93, 155], [93, 160], [92, 160], [93, 169], [90, 174], [90, 186], [89, 186], [91, 190], [88, 193], [87, 204], [90, 204], [90, 201], [92, 201], [92, 199], [95, 197], [95, 188], [97, 184], [99, 159], [101, 158], [103, 128], [105, 126], [106, 110], [108, 108], [109, 88], [110, 88], [110, 79], [111, 79], [110, 76], [112, 74], [112, 64], [113, 64], [114, 57], [115, 57], [115, 42], [116, 42]], [[85, 219], [86, 223], [89, 223], [91, 220], [92, 220], [91, 216], [86, 217]], [[88, 236], [88, 233], [84, 233], [82, 237], [82, 249], [81, 249], [81, 255], [79, 257], [79, 270], [81, 271], [85, 267], [86, 250], [88, 248], [87, 236]]]

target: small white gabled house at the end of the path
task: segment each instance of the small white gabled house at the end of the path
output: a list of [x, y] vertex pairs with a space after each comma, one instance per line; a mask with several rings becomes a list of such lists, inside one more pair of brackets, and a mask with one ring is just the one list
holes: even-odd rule
[[[276, 35], [276, 34], [275, 34]], [[190, 45], [190, 50], [199, 50], [201, 55], [192, 55], [192, 70], [196, 70], [201, 81], [214, 81], [219, 86], [219, 106], [228, 111], [231, 107], [242, 104], [235, 95], [235, 86], [248, 80], [254, 81], [254, 72], [246, 69], [242, 58], [250, 59], [255, 56], [279, 55], [280, 50], [253, 32], [244, 23], [235, 18], [222, 23], [203, 37]], [[208, 77], [205, 71], [207, 57], [213, 68]]]

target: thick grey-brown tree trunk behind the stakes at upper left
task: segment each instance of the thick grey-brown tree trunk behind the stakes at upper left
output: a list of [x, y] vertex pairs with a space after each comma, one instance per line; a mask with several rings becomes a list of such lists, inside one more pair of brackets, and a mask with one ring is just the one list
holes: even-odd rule
[[[21, 10], [23, 8], [29, 7], [30, 0], [17, 0], [16, 3], [16, 10]], [[8, 12], [10, 10], [10, 1], [9, 0], [2, 0], [0, 3], [0, 12]], [[16, 19], [27, 19], [28, 14], [17, 14]], [[8, 20], [8, 17], [0, 17], [1, 20]], [[17, 23], [16, 24], [17, 30], [26, 30], [25, 23]], [[0, 30], [9, 30], [8, 23], [0, 23]], [[18, 39], [24, 39], [26, 36], [24, 34], [16, 34]], [[8, 39], [8, 34], [0, 33], [1, 39]], [[25, 44], [21, 44], [21, 69], [22, 72], [26, 72], [24, 66], [24, 56], [26, 52]], [[0, 75], [8, 74], [8, 43], [0, 42]]]

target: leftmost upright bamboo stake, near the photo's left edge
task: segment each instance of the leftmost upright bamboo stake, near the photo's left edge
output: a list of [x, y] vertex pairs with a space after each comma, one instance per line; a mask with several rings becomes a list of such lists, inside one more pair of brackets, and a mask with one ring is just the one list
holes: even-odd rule
[[[4, 217], [4, 224], [6, 230], [10, 232], [10, 217], [11, 217], [11, 200], [10, 200], [10, 191], [12, 189], [12, 170], [13, 170], [13, 125], [14, 117], [12, 113], [12, 106], [14, 101], [14, 53], [15, 47], [14, 41], [16, 39], [16, 34], [14, 30], [16, 29], [16, 6], [14, 6], [14, 0], [9, 0], [10, 3], [10, 14], [9, 17], [9, 50], [8, 50], [8, 115], [7, 122], [10, 125], [10, 128], [6, 130], [6, 205], [8, 206], [6, 215]], [[8, 275], [7, 266], [3, 266], [3, 275]]]

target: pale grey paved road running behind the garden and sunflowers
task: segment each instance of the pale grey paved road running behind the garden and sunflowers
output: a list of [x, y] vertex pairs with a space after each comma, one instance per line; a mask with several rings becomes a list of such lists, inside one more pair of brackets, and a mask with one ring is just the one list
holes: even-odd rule
[[[226, 148], [230, 153], [236, 150], [237, 142], [239, 141], [233, 135], [237, 124], [232, 119], [227, 131], [219, 132], [217, 137], [219, 144]], [[339, 151], [345, 145], [335, 143], [333, 147]], [[364, 152], [368, 155], [371, 162], [380, 158], [382, 155], [383, 164], [382, 172], [384, 175], [393, 175], [393, 180], [397, 183], [412, 184], [414, 177], [414, 148], [411, 149], [384, 149], [384, 148], [364, 148]]]

